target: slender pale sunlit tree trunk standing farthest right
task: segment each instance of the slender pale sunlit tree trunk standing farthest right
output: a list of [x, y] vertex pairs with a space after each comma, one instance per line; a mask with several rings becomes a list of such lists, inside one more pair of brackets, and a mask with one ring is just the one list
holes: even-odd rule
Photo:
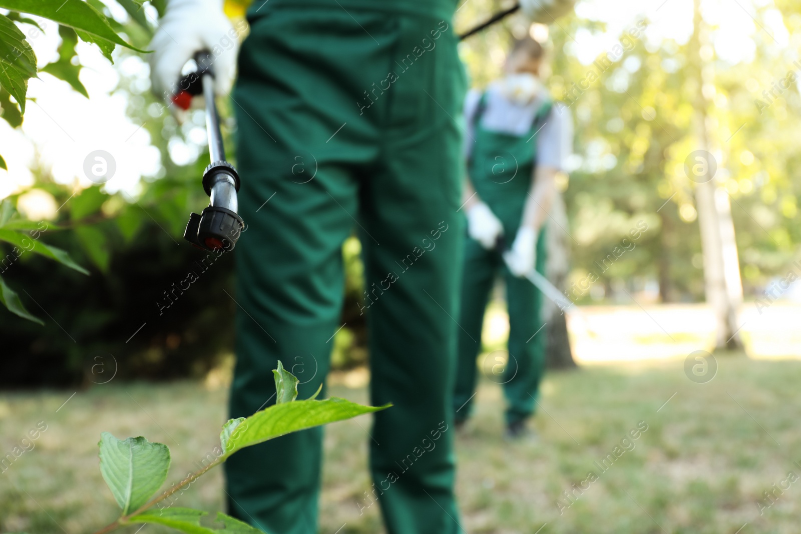
[[737, 324], [737, 311], [743, 302], [735, 227], [731, 219], [731, 203], [727, 191], [716, 179], [718, 162], [711, 154], [708, 110], [714, 93], [712, 66], [703, 59], [709, 46], [709, 30], [703, 22], [700, 0], [694, 2], [694, 31], [690, 41], [698, 81], [694, 127], [698, 147], [688, 155], [686, 171], [695, 182], [695, 205], [701, 230], [704, 289], [706, 303], [712, 307], [716, 322], [715, 347], [742, 347]]

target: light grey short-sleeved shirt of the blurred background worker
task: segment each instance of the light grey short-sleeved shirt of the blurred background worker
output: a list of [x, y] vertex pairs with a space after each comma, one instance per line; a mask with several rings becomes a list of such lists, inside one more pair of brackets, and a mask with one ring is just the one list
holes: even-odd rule
[[[487, 90], [486, 105], [481, 115], [481, 126], [485, 130], [511, 135], [525, 135], [531, 128], [534, 115], [540, 109], [545, 95], [534, 98], [525, 106], [510, 102], [496, 86]], [[470, 90], [465, 98], [465, 156], [470, 155], [475, 134], [473, 115], [476, 113], [481, 91]], [[567, 157], [573, 152], [573, 119], [570, 109], [560, 102], [554, 102], [545, 121], [537, 132], [537, 165], [553, 167], [557, 171], [566, 170]]]

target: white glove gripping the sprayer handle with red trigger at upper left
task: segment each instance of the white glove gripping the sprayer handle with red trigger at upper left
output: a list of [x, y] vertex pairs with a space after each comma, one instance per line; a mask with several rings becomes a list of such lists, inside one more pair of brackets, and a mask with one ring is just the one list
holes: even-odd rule
[[222, 0], [169, 0], [150, 46], [151, 88], [167, 103], [179, 91], [181, 69], [200, 50], [211, 51], [215, 92], [231, 89], [239, 31], [223, 13]]

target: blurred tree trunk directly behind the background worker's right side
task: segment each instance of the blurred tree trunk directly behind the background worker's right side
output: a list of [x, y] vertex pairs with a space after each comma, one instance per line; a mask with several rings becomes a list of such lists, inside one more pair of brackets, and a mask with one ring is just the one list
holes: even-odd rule
[[[567, 285], [570, 243], [568, 243], [569, 238], [565, 231], [562, 230], [562, 228], [567, 228], [567, 213], [565, 201], [559, 193], [554, 195], [550, 215], [558, 224], [551, 222], [545, 229], [548, 236], [548, 259], [545, 262], [545, 275], [554, 286], [564, 292]], [[565, 314], [556, 304], [549, 299], [544, 299], [542, 317], [545, 319], [545, 331], [548, 334], [545, 343], [545, 367], [549, 369], [576, 367], [573, 353], [570, 351]]]

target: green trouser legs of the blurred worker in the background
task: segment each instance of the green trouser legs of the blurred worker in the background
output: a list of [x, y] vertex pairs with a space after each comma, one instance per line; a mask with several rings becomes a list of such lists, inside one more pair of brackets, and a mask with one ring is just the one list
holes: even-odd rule
[[[537, 239], [537, 272], [545, 274], [545, 227]], [[487, 378], [503, 385], [508, 407], [506, 423], [531, 416], [545, 370], [545, 329], [541, 319], [542, 293], [525, 278], [509, 272], [501, 253], [488, 251], [477, 241], [465, 243], [464, 272], [461, 282], [461, 313], [456, 390], [453, 407], [457, 420], [465, 420], [472, 409], [476, 390], [476, 358], [481, 352], [481, 327], [489, 293], [499, 272], [506, 286], [509, 310], [508, 360], [489, 353], [480, 363]]]

